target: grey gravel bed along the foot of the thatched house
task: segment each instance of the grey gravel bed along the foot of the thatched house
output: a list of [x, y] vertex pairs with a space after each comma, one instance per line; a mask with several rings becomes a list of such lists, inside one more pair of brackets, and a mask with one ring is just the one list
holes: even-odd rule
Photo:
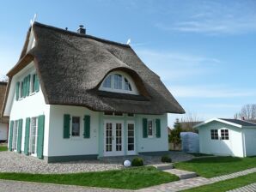
[[[173, 162], [185, 161], [192, 159], [191, 154], [182, 152], [169, 152]], [[57, 173], [75, 173], [88, 171], [107, 171], [119, 170], [123, 168], [125, 159], [133, 159], [131, 157], [112, 157], [102, 158], [101, 160], [82, 160], [63, 163], [47, 164], [46, 161], [40, 160], [24, 154], [15, 152], [0, 153], [0, 172], [27, 172], [40, 174], [57, 174]], [[145, 165], [155, 165], [162, 163], [161, 156], [141, 156]]]

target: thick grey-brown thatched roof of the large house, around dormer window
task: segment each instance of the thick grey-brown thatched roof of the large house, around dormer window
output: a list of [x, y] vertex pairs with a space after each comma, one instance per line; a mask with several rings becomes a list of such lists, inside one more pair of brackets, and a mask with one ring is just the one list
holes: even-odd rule
[[[27, 33], [20, 61], [8, 73], [9, 81], [34, 60], [46, 104], [85, 106], [93, 111], [143, 114], [184, 113], [180, 104], [131, 49], [90, 35], [34, 22], [36, 44], [27, 50]], [[161, 63], [159, 63], [161, 64]], [[139, 96], [99, 91], [113, 70], [122, 70], [136, 82]]]

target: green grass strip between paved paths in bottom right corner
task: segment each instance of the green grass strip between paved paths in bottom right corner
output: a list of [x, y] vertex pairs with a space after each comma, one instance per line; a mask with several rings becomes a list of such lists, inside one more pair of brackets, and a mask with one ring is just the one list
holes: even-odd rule
[[247, 176], [241, 176], [232, 178], [226, 181], [204, 185], [202, 187], [186, 189], [184, 192], [222, 192], [231, 189], [241, 188], [247, 184], [256, 182], [256, 173], [249, 174]]

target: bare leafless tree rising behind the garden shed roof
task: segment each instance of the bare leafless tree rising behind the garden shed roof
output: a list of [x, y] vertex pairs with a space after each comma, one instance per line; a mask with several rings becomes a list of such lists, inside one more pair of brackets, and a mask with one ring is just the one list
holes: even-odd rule
[[238, 117], [245, 120], [256, 120], [256, 104], [243, 105]]

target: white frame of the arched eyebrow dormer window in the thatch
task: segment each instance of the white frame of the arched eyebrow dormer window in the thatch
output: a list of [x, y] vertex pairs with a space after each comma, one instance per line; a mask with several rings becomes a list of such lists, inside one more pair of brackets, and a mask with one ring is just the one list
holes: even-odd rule
[[[121, 75], [122, 76], [122, 88], [117, 89], [114, 88], [114, 75]], [[104, 87], [104, 81], [111, 76], [111, 87]], [[125, 79], [130, 83], [131, 85], [131, 91], [130, 90], [125, 90]], [[134, 81], [131, 79], [130, 75], [127, 75], [123, 71], [113, 71], [110, 74], [108, 74], [105, 79], [101, 83], [101, 87], [99, 88], [101, 91], [107, 91], [107, 92], [113, 92], [113, 93], [128, 93], [128, 94], [137, 94], [137, 87], [134, 83]]]

